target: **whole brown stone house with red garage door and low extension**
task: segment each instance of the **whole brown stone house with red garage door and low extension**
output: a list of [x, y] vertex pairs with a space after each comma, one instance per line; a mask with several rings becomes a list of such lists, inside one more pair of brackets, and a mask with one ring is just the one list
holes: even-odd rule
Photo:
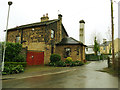
[[[72, 43], [63, 44], [66, 39]], [[7, 41], [21, 43], [23, 47], [27, 47], [28, 65], [46, 64], [53, 53], [60, 54], [62, 60], [67, 56], [73, 60], [85, 59], [85, 45], [68, 36], [62, 24], [61, 14], [54, 20], [49, 20], [46, 14], [41, 17], [41, 22], [11, 28], [8, 30]], [[70, 48], [71, 53], [65, 57], [63, 54], [65, 50], [68, 53], [67, 48]]]

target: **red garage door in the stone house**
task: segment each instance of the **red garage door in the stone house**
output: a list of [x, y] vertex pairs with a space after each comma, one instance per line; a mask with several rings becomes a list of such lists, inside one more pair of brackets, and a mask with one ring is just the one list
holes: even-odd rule
[[27, 65], [40, 65], [44, 64], [44, 52], [27, 52]]

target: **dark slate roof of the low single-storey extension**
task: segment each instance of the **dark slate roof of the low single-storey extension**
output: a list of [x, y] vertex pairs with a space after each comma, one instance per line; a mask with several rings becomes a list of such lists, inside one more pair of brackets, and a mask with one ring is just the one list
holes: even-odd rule
[[57, 43], [56, 45], [84, 45], [82, 42], [75, 40], [72, 37], [63, 38], [61, 42]]

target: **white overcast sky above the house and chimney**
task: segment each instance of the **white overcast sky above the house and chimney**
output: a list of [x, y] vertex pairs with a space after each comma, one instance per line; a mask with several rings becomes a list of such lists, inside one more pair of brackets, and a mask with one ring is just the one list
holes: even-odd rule
[[[8, 28], [39, 22], [43, 14], [49, 19], [63, 15], [62, 23], [70, 37], [79, 40], [79, 21], [85, 21], [85, 44], [93, 44], [93, 33], [107, 39], [111, 29], [110, 0], [11, 0]], [[116, 0], [118, 2], [119, 0]], [[0, 41], [5, 38], [8, 0], [0, 0]], [[58, 10], [60, 12], [58, 12]], [[114, 2], [115, 38], [118, 37], [118, 4]]]

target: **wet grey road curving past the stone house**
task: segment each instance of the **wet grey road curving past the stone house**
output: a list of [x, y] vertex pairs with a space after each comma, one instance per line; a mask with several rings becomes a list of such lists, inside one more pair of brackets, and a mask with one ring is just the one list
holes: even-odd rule
[[107, 61], [92, 61], [64, 73], [3, 80], [3, 88], [118, 88], [118, 77], [100, 72]]

